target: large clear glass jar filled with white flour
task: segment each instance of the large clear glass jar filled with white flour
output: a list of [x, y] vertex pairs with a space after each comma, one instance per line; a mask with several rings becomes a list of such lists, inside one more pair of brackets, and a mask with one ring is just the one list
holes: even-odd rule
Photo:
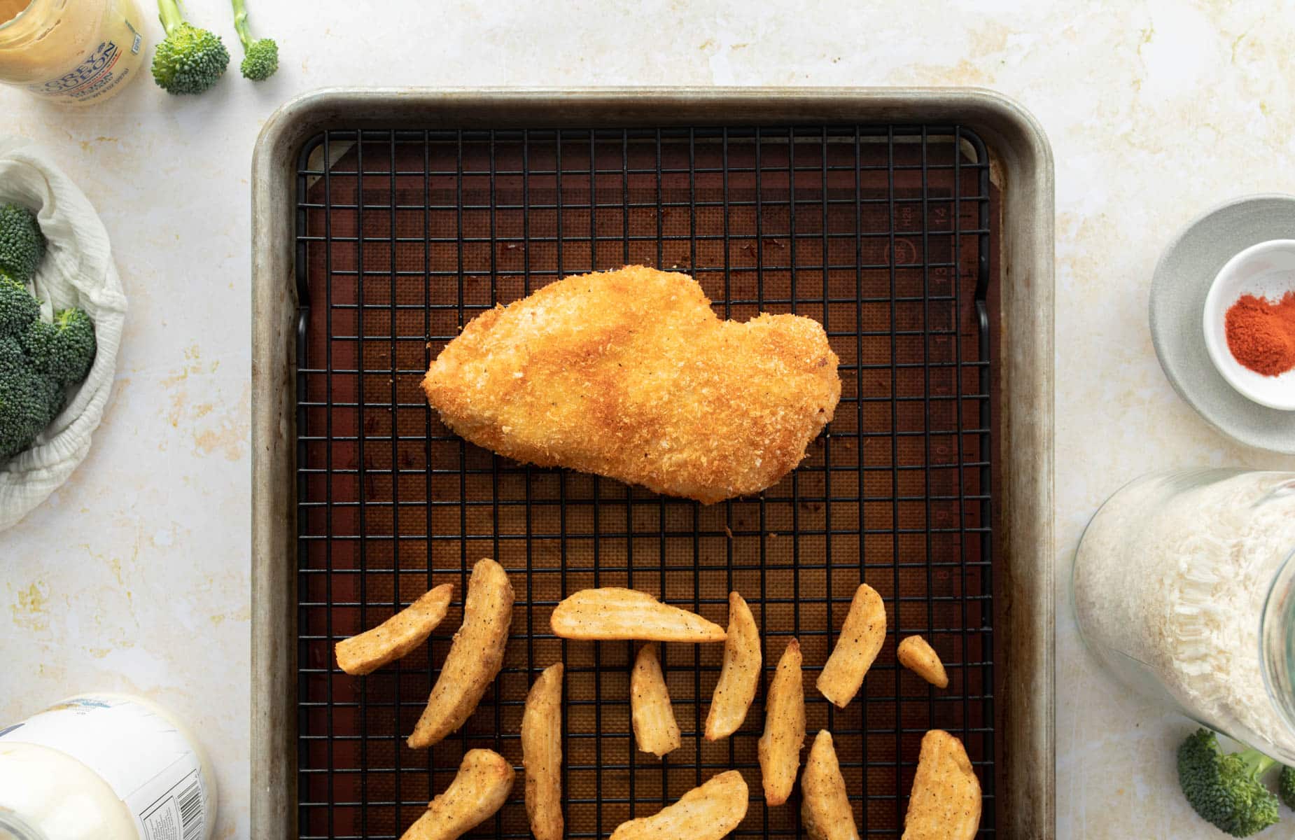
[[1295, 765], [1295, 472], [1137, 479], [1084, 531], [1074, 595], [1121, 682]]

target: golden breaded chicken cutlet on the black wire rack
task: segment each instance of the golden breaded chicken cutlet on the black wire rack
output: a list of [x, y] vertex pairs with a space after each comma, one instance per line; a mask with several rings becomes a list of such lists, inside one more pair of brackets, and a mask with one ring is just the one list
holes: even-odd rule
[[840, 399], [817, 321], [721, 321], [692, 277], [642, 265], [482, 313], [422, 387], [479, 447], [706, 503], [777, 483]]

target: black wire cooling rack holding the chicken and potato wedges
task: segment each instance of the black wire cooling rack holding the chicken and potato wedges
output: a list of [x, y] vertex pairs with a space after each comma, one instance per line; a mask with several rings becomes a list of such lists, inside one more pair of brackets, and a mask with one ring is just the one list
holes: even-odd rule
[[[474, 834], [528, 836], [522, 704], [566, 663], [567, 836], [601, 837], [729, 768], [751, 790], [734, 836], [800, 836], [799, 799], [768, 808], [756, 739], [701, 738], [721, 647], [662, 650], [684, 746], [638, 753], [624, 642], [567, 642], [553, 606], [632, 586], [726, 623], [741, 591], [772, 672], [804, 651], [809, 738], [835, 738], [864, 836], [903, 828], [918, 743], [958, 735], [995, 834], [989, 163], [958, 126], [587, 131], [329, 131], [297, 177], [298, 764], [302, 837], [398, 837], [490, 747], [519, 778]], [[817, 318], [840, 357], [835, 419], [790, 476], [712, 506], [534, 469], [465, 444], [418, 388], [479, 312], [553, 280], [641, 263], [694, 276], [724, 317]], [[461, 620], [471, 564], [517, 590], [502, 672], [464, 729], [404, 744]], [[855, 588], [883, 595], [888, 638], [860, 696], [813, 689]], [[333, 645], [453, 582], [431, 642], [368, 677]], [[897, 667], [921, 633], [948, 665], [936, 690]]]

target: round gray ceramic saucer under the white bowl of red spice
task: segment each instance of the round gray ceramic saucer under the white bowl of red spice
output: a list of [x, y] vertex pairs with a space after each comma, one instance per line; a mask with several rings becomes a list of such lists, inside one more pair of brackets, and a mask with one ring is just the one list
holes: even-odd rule
[[1210, 425], [1248, 447], [1295, 454], [1295, 412], [1251, 403], [1219, 375], [1200, 325], [1206, 294], [1238, 251], [1295, 238], [1295, 195], [1244, 195], [1198, 216], [1151, 277], [1151, 342], [1173, 390]]

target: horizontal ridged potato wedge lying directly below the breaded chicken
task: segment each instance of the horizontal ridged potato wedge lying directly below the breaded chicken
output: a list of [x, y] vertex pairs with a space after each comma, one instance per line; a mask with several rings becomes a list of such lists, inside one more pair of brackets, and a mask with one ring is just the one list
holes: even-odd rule
[[553, 610], [549, 624], [567, 639], [723, 642], [726, 636], [724, 628], [695, 612], [619, 586], [581, 589]]

